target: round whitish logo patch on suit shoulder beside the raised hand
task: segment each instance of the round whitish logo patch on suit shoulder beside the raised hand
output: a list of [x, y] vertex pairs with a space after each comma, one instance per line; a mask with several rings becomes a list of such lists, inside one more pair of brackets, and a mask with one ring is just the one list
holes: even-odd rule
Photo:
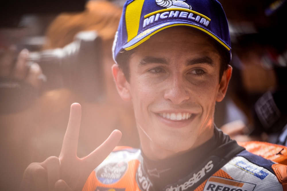
[[97, 170], [96, 176], [103, 184], [113, 184], [119, 181], [127, 171], [126, 162], [108, 163]]

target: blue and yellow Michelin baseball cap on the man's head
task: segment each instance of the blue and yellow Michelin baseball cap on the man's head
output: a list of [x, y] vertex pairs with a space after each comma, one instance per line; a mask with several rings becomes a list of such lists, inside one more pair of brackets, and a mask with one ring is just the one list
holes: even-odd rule
[[113, 44], [113, 57], [131, 50], [152, 35], [173, 26], [187, 26], [210, 36], [231, 60], [228, 22], [216, 0], [128, 0]]

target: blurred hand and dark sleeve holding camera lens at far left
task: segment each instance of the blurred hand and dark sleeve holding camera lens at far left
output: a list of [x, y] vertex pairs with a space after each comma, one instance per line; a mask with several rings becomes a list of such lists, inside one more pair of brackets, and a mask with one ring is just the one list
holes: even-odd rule
[[44, 75], [35, 62], [29, 62], [29, 51], [17, 55], [16, 46], [0, 48], [0, 113], [26, 109], [34, 103]]

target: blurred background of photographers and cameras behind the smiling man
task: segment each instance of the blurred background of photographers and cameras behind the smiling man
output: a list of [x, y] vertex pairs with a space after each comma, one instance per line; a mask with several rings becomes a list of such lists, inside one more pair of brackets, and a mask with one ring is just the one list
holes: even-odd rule
[[[82, 105], [78, 157], [114, 130], [139, 148], [133, 108], [119, 97], [111, 48], [124, 0], [0, 1], [0, 190], [26, 167], [59, 156], [70, 105]], [[220, 0], [232, 79], [216, 126], [237, 141], [286, 145], [286, 0]]]

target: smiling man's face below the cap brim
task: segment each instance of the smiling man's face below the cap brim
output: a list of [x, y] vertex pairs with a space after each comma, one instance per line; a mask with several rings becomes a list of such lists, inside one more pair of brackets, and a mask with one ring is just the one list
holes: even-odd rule
[[213, 135], [215, 102], [224, 95], [220, 56], [209, 37], [185, 27], [165, 29], [135, 49], [129, 67], [127, 92], [144, 152], [185, 151]]

